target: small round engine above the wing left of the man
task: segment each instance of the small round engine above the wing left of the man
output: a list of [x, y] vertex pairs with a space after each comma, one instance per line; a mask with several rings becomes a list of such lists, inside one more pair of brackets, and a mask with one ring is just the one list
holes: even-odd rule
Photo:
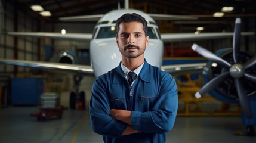
[[72, 51], [62, 51], [58, 54], [57, 63], [76, 64], [76, 54]]

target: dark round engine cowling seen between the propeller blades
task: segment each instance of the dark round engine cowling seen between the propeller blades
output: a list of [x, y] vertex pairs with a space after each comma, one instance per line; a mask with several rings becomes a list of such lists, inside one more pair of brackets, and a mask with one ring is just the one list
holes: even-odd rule
[[[235, 64], [233, 61], [233, 53], [232, 49], [221, 49], [217, 52], [215, 52], [215, 55], [222, 58], [223, 60], [227, 61], [230, 64]], [[240, 51], [238, 58], [240, 60], [240, 63], [245, 63], [246, 61], [250, 60], [253, 57], [253, 55], [250, 55], [248, 52]], [[206, 64], [205, 69], [203, 70], [203, 79], [205, 83], [208, 83], [215, 77], [226, 73], [228, 69], [209, 61]], [[246, 69], [246, 73], [249, 74], [256, 74], [256, 65], [250, 67], [249, 69]], [[221, 82], [215, 88], [211, 91], [209, 91], [209, 94], [212, 95], [212, 97], [216, 98], [217, 100], [227, 102], [227, 103], [239, 103], [239, 97], [238, 93], [236, 92], [236, 86], [234, 83], [234, 80], [232, 79], [232, 76], [227, 77], [227, 79], [224, 82]], [[252, 82], [252, 80], [248, 80], [246, 78], [242, 79], [242, 85], [245, 87], [246, 96], [249, 97], [251, 95], [256, 94], [255, 89], [255, 83]]]

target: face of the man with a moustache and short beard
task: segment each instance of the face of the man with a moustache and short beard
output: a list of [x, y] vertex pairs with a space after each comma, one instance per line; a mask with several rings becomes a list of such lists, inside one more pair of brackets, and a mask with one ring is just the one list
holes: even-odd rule
[[120, 23], [116, 43], [124, 57], [137, 58], [143, 55], [149, 42], [143, 30], [143, 24], [139, 22]]

